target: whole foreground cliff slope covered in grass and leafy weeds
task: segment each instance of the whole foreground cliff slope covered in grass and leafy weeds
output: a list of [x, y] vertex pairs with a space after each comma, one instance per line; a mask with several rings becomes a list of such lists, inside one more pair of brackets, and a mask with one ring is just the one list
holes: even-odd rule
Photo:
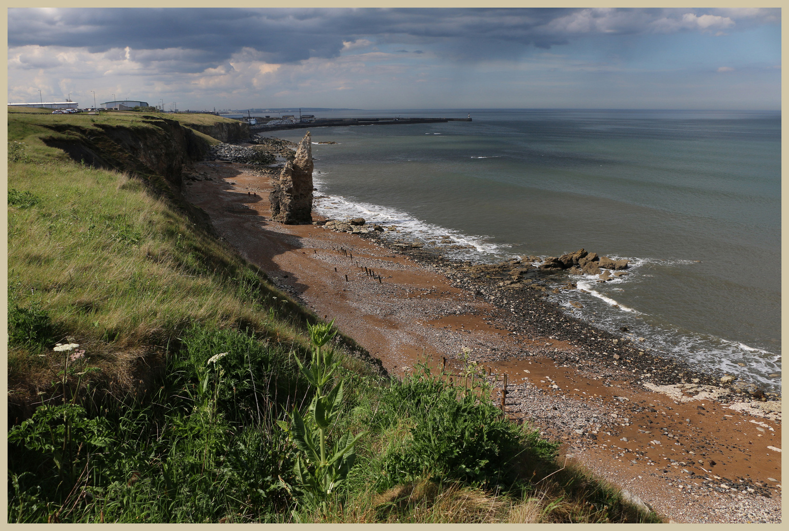
[[380, 376], [184, 208], [45, 156], [36, 127], [9, 128], [31, 153], [9, 161], [9, 522], [659, 522], [473, 366], [468, 389]]

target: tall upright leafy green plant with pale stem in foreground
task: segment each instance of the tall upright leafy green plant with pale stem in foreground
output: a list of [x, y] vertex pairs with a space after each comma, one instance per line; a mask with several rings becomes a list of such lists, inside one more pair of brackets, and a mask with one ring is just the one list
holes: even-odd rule
[[[334, 329], [334, 320], [331, 320], [331, 323], [308, 325], [308, 332], [312, 360], [307, 365], [297, 357], [295, 359], [301, 373], [315, 387], [316, 392], [305, 413], [301, 413], [298, 408], [290, 413], [290, 427], [284, 421], [280, 421], [279, 425], [290, 432], [300, 451], [294, 464], [294, 475], [298, 482], [294, 489], [301, 493], [298, 503], [327, 515], [329, 500], [353, 467], [356, 442], [365, 432], [357, 436], [346, 432], [334, 444], [329, 442], [327, 432], [337, 421], [342, 408], [344, 381], [339, 379], [327, 391], [339, 361], [335, 359], [334, 350], [324, 347], [337, 331]], [[295, 512], [293, 515], [298, 520]]]

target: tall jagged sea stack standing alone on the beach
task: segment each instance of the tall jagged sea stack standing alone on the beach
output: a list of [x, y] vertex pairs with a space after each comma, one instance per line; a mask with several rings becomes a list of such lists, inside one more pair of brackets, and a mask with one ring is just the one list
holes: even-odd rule
[[312, 139], [308, 131], [298, 143], [296, 156], [282, 168], [268, 194], [272, 220], [287, 225], [312, 222], [312, 167]]

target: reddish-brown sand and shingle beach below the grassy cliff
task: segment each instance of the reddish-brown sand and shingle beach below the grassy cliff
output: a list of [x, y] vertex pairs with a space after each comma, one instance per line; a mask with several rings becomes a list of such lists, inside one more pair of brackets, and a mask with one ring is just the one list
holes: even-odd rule
[[[466, 350], [499, 389], [507, 375], [510, 417], [561, 441], [568, 462], [626, 488], [665, 517], [780, 522], [780, 405], [777, 412], [765, 402], [732, 405], [690, 384], [636, 385], [626, 360], [621, 368], [604, 365], [570, 342], [518, 333], [512, 312], [440, 267], [417, 264], [374, 239], [271, 222], [271, 171], [198, 163], [198, 180], [186, 181], [185, 197], [280, 289], [335, 319], [388, 372], [402, 375], [425, 359], [440, 369], [444, 357], [459, 369]], [[553, 309], [540, 311], [527, 319], [552, 319]]]

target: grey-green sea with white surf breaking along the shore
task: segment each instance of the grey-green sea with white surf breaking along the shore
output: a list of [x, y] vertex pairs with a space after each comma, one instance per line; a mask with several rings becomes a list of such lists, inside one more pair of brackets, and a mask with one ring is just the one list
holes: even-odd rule
[[580, 289], [551, 297], [701, 371], [780, 391], [780, 111], [312, 114], [473, 120], [309, 129], [321, 215], [394, 225], [386, 237], [474, 263], [581, 248], [630, 260], [629, 275], [570, 275]]

